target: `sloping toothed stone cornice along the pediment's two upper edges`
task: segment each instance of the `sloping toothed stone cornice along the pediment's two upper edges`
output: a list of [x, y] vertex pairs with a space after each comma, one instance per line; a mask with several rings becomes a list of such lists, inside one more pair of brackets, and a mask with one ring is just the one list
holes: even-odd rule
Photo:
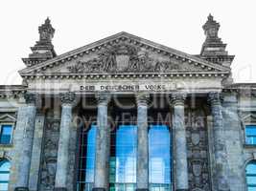
[[159, 53], [163, 55], [169, 55], [170, 57], [175, 57], [176, 59], [181, 59], [182, 61], [188, 61], [189, 64], [194, 64], [196, 66], [201, 66], [202, 68], [207, 68], [208, 70], [218, 70], [219, 72], [230, 72], [230, 68], [224, 67], [221, 65], [213, 64], [204, 59], [198, 58], [197, 56], [182, 53], [176, 51], [175, 49], [151, 42], [149, 40], [143, 39], [138, 36], [134, 36], [127, 32], [117, 33], [110, 37], [107, 37], [103, 40], [97, 41], [95, 43], [86, 45], [74, 51], [63, 53], [58, 55], [57, 57], [42, 62], [38, 65], [31, 66], [29, 68], [23, 69], [19, 71], [21, 76], [25, 74], [31, 73], [43, 73], [49, 68], [53, 68], [55, 66], [63, 65], [67, 61], [76, 60], [81, 56], [84, 56], [89, 53], [98, 53], [102, 48], [105, 48], [108, 45], [115, 45], [120, 41], [127, 42], [130, 45], [136, 45], [138, 47], [144, 47], [146, 50], [149, 50], [154, 53]]

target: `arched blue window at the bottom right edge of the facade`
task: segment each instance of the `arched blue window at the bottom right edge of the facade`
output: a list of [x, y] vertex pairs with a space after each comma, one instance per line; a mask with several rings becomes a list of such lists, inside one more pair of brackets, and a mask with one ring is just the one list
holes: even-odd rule
[[256, 160], [246, 166], [247, 191], [256, 191]]

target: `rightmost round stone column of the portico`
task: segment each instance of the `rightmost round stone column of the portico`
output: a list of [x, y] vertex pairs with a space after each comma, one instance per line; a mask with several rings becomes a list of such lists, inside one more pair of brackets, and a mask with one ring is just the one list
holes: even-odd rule
[[226, 159], [226, 146], [223, 130], [223, 117], [221, 108], [221, 95], [220, 93], [210, 93], [208, 101], [211, 104], [212, 117], [213, 117], [213, 136], [214, 136], [214, 183], [218, 191], [230, 190], [227, 180], [227, 159]]

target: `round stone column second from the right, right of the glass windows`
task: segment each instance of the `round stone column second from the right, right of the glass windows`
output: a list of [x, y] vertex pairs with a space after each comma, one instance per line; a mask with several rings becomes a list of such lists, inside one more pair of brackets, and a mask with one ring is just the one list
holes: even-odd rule
[[188, 161], [187, 161], [187, 140], [184, 124], [184, 101], [186, 95], [175, 93], [171, 96], [171, 104], [174, 108], [173, 129], [174, 129], [174, 170], [175, 190], [188, 191]]

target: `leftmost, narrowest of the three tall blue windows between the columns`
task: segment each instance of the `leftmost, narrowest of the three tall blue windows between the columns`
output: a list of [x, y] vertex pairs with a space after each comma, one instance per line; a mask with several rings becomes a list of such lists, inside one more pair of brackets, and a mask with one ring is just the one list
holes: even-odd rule
[[91, 191], [94, 182], [95, 154], [96, 154], [96, 125], [89, 130], [81, 130], [80, 159], [78, 172], [78, 191]]

